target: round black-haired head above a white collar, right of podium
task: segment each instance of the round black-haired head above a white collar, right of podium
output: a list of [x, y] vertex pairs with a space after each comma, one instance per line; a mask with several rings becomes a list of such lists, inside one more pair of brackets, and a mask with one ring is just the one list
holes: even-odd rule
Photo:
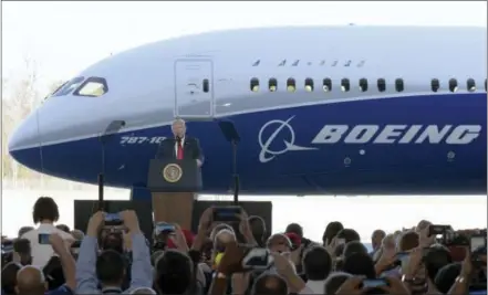
[[307, 250], [302, 264], [307, 278], [311, 281], [323, 281], [332, 271], [332, 257], [323, 246]]

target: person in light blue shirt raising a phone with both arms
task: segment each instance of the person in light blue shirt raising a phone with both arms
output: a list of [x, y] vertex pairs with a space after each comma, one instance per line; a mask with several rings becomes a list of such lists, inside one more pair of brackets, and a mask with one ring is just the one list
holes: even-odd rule
[[[126, 276], [125, 260], [114, 250], [104, 250], [97, 256], [97, 236], [105, 221], [104, 212], [96, 212], [89, 221], [86, 235], [76, 262], [76, 294], [121, 294]], [[128, 210], [120, 213], [132, 236], [132, 267], [129, 289], [153, 286], [153, 268], [146, 239], [141, 233], [137, 217]], [[98, 282], [102, 291], [98, 289]]]

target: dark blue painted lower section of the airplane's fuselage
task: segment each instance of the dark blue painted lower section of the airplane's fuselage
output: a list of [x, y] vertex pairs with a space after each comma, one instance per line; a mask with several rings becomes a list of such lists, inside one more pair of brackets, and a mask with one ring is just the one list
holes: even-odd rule
[[[484, 193], [486, 192], [486, 93], [409, 96], [281, 108], [230, 116], [241, 143], [238, 167], [241, 187], [255, 194], [283, 193]], [[294, 116], [294, 117], [293, 117]], [[288, 150], [261, 164], [258, 134], [270, 120], [290, 120], [294, 145], [313, 150]], [[338, 144], [312, 145], [324, 125], [481, 125], [469, 145]], [[263, 131], [269, 138], [272, 126]], [[225, 193], [231, 186], [231, 149], [216, 122], [190, 122], [188, 133], [199, 138], [206, 155], [205, 191]], [[145, 143], [121, 145], [123, 137], [146, 137]], [[105, 146], [106, 183], [144, 186], [156, 138], [170, 136], [169, 126], [114, 136]], [[283, 150], [290, 133], [282, 130], [269, 146]], [[144, 140], [138, 140], [144, 141]], [[150, 143], [153, 141], [153, 144]], [[101, 144], [87, 138], [42, 147], [43, 172], [96, 183]], [[455, 158], [448, 160], [447, 154]], [[362, 154], [361, 154], [362, 152]], [[41, 170], [39, 149], [14, 151], [14, 157]], [[350, 165], [344, 165], [349, 158]], [[29, 164], [32, 165], [29, 165]]]

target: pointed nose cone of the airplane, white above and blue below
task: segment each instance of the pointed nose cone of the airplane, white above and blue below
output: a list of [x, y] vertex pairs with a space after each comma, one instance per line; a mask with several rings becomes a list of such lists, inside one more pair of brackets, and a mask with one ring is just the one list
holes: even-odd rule
[[18, 162], [42, 170], [41, 140], [38, 126], [38, 112], [30, 114], [9, 138], [9, 154]]

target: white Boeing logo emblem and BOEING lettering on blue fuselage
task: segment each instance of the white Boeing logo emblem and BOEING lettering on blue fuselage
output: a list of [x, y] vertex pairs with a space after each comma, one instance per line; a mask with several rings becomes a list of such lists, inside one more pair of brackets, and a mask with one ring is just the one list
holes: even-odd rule
[[[260, 162], [269, 162], [287, 151], [315, 150], [320, 144], [447, 144], [468, 145], [479, 137], [481, 125], [324, 125], [308, 146], [295, 145], [295, 134], [290, 122], [273, 119], [262, 125], [258, 141], [261, 147]], [[264, 131], [272, 130], [268, 138]], [[282, 149], [271, 149], [280, 133], [288, 133]]]

